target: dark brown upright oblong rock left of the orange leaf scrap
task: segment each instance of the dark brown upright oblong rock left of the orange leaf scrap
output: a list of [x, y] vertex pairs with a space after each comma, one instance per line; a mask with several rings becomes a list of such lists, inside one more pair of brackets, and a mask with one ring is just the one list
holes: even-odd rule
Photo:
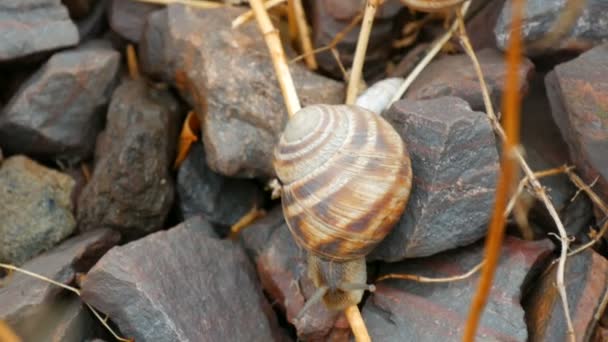
[[79, 198], [81, 230], [107, 226], [131, 236], [162, 228], [174, 197], [178, 109], [168, 91], [144, 82], [127, 80], [114, 91]]

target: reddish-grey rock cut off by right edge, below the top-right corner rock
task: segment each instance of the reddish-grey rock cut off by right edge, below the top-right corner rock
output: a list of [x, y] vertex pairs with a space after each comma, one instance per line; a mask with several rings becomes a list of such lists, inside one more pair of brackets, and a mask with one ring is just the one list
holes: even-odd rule
[[557, 65], [545, 78], [553, 118], [576, 172], [608, 199], [608, 44]]

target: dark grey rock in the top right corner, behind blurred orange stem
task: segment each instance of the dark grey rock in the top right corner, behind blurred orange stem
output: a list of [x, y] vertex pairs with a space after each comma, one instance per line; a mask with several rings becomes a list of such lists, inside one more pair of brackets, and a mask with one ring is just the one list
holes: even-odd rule
[[[526, 1], [524, 8], [524, 19], [521, 32], [524, 42], [531, 42], [544, 37], [553, 29], [554, 23], [565, 11], [566, 0], [531, 0]], [[511, 23], [511, 3], [506, 2], [494, 34], [498, 47], [506, 49], [509, 41], [509, 30]], [[550, 47], [551, 52], [575, 51], [582, 52], [608, 41], [608, 3], [603, 0], [588, 0], [584, 4], [582, 14], [575, 20], [573, 27], [566, 31], [565, 35]], [[547, 53], [529, 49], [528, 55]]]

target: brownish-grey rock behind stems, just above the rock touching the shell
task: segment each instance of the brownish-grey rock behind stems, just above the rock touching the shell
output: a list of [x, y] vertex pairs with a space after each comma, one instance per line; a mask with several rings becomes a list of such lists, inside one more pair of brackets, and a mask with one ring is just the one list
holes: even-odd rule
[[[477, 52], [477, 58], [494, 108], [500, 108], [507, 70], [505, 57], [498, 50], [483, 49]], [[527, 93], [527, 80], [533, 71], [532, 62], [524, 59], [519, 68], [520, 79], [523, 80], [520, 93]], [[411, 85], [405, 98], [423, 100], [442, 96], [460, 97], [466, 100], [473, 110], [486, 111], [477, 74], [466, 54], [446, 55], [429, 64]]]

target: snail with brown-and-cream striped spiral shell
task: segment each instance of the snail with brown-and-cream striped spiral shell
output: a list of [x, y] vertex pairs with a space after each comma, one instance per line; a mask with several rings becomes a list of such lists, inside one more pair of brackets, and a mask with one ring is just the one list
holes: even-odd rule
[[405, 143], [381, 116], [355, 105], [296, 112], [274, 151], [287, 226], [307, 251], [317, 290], [298, 317], [322, 300], [357, 305], [367, 285], [365, 256], [407, 204], [412, 169]]

